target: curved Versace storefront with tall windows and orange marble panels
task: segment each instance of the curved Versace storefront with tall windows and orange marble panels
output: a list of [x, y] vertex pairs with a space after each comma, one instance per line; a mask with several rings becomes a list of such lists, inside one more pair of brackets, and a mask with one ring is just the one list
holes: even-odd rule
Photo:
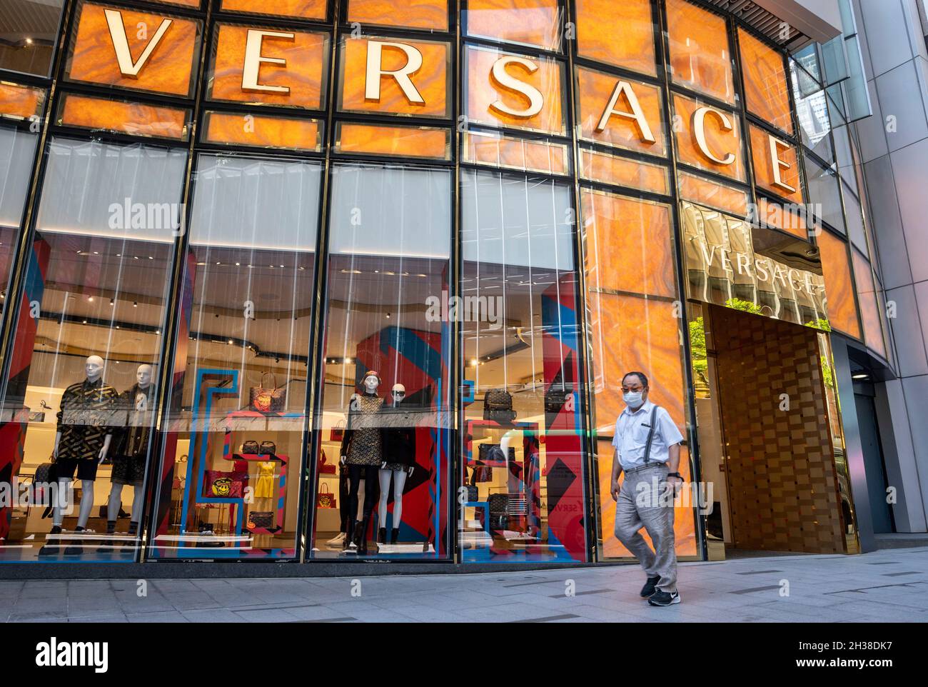
[[830, 337], [891, 346], [817, 54], [698, 0], [5, 4], [0, 562], [623, 558], [630, 370], [701, 559], [753, 541], [700, 490], [741, 325], [827, 420], [827, 526], [768, 540], [855, 551]]

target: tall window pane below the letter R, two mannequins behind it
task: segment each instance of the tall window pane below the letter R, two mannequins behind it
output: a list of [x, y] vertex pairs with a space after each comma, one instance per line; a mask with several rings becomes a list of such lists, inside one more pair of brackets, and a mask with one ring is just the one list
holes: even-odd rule
[[335, 166], [314, 558], [451, 553], [452, 178]]

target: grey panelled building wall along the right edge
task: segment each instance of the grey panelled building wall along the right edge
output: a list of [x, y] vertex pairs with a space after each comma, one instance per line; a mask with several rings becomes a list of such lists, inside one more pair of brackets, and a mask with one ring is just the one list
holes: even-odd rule
[[928, 50], [921, 0], [853, 0], [873, 116], [856, 124], [897, 379], [878, 384], [899, 532], [928, 502]]

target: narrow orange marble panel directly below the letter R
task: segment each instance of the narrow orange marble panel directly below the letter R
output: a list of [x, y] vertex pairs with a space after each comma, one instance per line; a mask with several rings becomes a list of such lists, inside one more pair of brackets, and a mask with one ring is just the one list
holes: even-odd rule
[[451, 132], [425, 126], [344, 122], [338, 125], [335, 150], [448, 160], [451, 157]]

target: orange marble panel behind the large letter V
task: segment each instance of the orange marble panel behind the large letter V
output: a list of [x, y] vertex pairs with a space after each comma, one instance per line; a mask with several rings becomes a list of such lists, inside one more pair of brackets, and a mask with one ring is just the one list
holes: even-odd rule
[[[123, 75], [120, 69], [105, 13], [108, 9], [118, 10], [129, 51], [136, 63], [144, 55], [149, 42], [158, 35], [161, 26], [167, 25], [137, 78]], [[167, 24], [168, 21], [170, 24]], [[77, 19], [68, 78], [89, 84], [187, 97], [192, 90], [191, 74], [199, 52], [199, 21], [85, 3]]]

